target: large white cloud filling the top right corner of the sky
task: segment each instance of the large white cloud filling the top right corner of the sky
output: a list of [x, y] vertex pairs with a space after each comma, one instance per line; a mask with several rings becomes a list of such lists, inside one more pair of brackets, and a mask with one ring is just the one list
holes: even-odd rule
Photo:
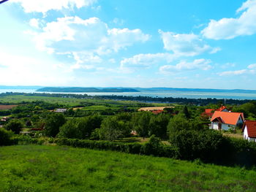
[[256, 33], [256, 0], [248, 0], [237, 10], [242, 14], [238, 18], [211, 20], [201, 31], [208, 39], [233, 39], [238, 36]]

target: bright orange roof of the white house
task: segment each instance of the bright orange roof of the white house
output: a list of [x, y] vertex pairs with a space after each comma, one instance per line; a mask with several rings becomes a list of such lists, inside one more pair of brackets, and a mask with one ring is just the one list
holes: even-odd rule
[[215, 111], [214, 115], [211, 117], [211, 121], [215, 120], [216, 118], [222, 118], [223, 123], [236, 126], [236, 123], [238, 122], [240, 116], [244, 121], [244, 114], [242, 112]]

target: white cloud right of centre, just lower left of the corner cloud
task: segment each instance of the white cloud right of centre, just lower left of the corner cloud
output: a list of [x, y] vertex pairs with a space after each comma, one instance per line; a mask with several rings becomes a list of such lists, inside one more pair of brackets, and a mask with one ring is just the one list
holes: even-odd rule
[[216, 53], [219, 47], [211, 47], [196, 34], [175, 34], [159, 30], [165, 50], [173, 51], [176, 55], [195, 56], [201, 53]]

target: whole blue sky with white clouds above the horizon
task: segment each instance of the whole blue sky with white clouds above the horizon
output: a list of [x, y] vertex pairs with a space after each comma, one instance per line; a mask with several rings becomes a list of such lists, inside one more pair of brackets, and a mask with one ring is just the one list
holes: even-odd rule
[[256, 89], [256, 0], [10, 0], [0, 85]]

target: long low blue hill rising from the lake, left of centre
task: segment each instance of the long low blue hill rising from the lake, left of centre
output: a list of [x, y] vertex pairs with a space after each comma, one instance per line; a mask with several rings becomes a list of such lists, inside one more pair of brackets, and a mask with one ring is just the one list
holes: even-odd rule
[[39, 88], [37, 91], [40, 92], [63, 92], [63, 93], [124, 93], [124, 92], [140, 92], [133, 88]]

